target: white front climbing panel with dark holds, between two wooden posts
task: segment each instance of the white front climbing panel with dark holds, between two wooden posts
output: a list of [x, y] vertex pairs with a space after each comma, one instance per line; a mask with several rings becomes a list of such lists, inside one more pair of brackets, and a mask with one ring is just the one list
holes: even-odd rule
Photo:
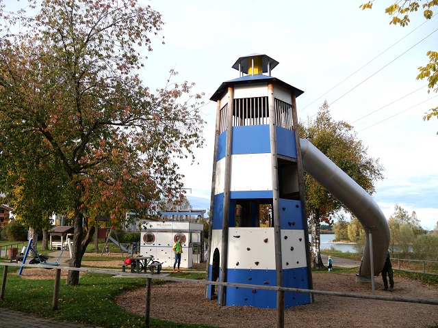
[[228, 238], [229, 269], [275, 270], [274, 228], [230, 228]]

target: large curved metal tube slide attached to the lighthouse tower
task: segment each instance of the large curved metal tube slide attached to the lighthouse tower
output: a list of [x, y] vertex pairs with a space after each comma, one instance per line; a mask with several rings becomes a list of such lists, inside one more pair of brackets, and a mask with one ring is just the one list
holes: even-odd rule
[[378, 275], [385, 264], [389, 246], [389, 226], [385, 215], [374, 199], [355, 180], [339, 169], [310, 141], [300, 139], [300, 145], [302, 168], [335, 196], [339, 202], [342, 202], [359, 219], [367, 233], [359, 276], [371, 277], [369, 232], [372, 233], [374, 275]]

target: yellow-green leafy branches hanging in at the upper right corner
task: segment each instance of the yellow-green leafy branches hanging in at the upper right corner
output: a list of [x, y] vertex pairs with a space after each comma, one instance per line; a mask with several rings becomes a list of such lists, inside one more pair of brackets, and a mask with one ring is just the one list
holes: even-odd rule
[[[371, 9], [374, 0], [368, 1], [368, 3], [364, 3], [360, 6], [362, 10]], [[433, 8], [438, 5], [438, 1], [436, 0], [426, 0], [426, 1], [396, 1], [389, 5], [385, 9], [385, 12], [391, 16], [391, 21], [389, 24], [400, 25], [402, 27], [407, 26], [411, 20], [409, 19], [409, 15], [413, 12], [417, 12], [419, 9], [423, 10], [423, 16], [426, 19], [430, 19], [433, 17]], [[428, 56], [428, 64], [426, 66], [420, 66], [418, 70], [420, 73], [417, 75], [418, 79], [427, 79], [428, 87], [433, 92], [438, 92], [438, 52], [437, 51], [428, 51], [426, 53]], [[430, 120], [433, 117], [438, 118], [438, 107], [430, 109], [428, 113], [425, 113], [424, 120]]]

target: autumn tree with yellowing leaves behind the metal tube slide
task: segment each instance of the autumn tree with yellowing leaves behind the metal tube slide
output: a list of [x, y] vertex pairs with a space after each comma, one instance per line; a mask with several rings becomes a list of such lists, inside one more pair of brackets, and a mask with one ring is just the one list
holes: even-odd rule
[[[331, 117], [329, 105], [324, 102], [314, 120], [300, 128], [300, 136], [308, 139], [333, 163], [355, 180], [365, 191], [374, 193], [374, 181], [383, 178], [383, 168], [378, 160], [368, 156], [367, 148], [357, 139], [350, 124], [336, 122]], [[304, 175], [307, 217], [312, 236], [312, 267], [324, 268], [320, 252], [320, 224], [333, 223], [333, 215], [348, 208], [326, 191], [309, 174]]]

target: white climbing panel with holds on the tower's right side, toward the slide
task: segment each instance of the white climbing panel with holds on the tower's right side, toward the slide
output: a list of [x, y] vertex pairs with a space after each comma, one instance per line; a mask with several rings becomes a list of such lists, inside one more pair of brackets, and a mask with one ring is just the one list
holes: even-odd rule
[[[283, 269], [307, 267], [306, 251], [309, 250], [309, 245], [306, 247], [305, 244], [304, 230], [281, 230]], [[294, 250], [291, 250], [291, 247], [294, 247]]]

